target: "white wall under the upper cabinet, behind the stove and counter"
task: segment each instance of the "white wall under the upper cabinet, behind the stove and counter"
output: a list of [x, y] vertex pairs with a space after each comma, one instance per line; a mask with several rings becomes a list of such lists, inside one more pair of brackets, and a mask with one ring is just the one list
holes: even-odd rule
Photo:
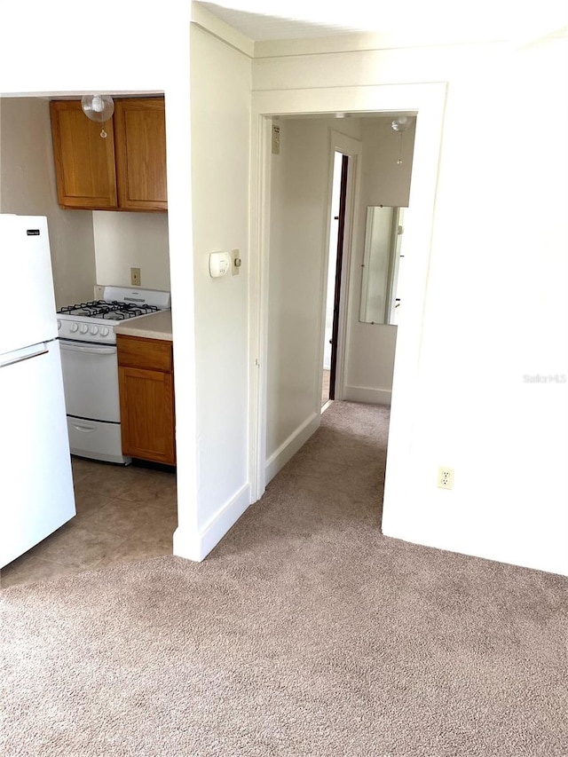
[[140, 286], [170, 289], [167, 213], [92, 214], [97, 283], [130, 287], [130, 268], [140, 269]]

